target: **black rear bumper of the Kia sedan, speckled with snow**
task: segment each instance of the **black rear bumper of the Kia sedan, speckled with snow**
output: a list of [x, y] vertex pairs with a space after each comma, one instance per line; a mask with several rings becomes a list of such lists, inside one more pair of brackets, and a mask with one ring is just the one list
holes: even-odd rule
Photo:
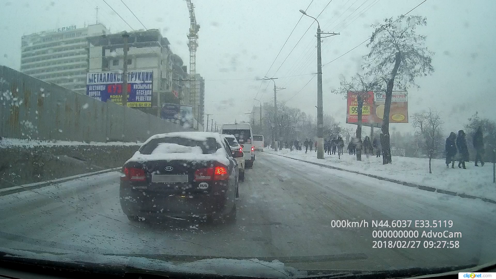
[[121, 181], [120, 201], [129, 216], [187, 217], [215, 216], [229, 211], [228, 187], [214, 182], [208, 193], [159, 193], [135, 189], [129, 181]]

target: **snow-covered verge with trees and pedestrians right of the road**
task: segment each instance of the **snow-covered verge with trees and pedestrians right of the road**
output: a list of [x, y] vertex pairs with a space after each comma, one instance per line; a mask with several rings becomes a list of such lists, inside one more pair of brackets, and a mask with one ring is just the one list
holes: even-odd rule
[[[305, 148], [305, 147], [303, 147]], [[266, 148], [265, 152], [276, 153]], [[283, 149], [277, 154], [291, 158], [317, 162], [346, 170], [359, 171], [365, 174], [377, 175], [385, 178], [397, 179], [422, 186], [434, 187], [456, 193], [463, 193], [496, 200], [496, 184], [493, 183], [493, 164], [486, 163], [484, 167], [474, 166], [474, 162], [466, 162], [467, 169], [460, 169], [455, 164], [446, 168], [444, 159], [433, 159], [432, 174], [429, 174], [429, 159], [393, 156], [392, 164], [383, 165], [382, 157], [362, 155], [362, 161], [357, 161], [355, 155], [345, 153], [338, 159], [338, 155], [325, 155], [324, 160], [317, 159], [315, 150], [305, 153], [304, 150]], [[372, 178], [371, 178], [372, 179]]]

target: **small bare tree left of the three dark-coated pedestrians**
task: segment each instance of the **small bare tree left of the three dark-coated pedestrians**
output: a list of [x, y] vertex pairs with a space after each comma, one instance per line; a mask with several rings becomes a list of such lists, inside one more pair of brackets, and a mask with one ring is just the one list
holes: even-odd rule
[[421, 135], [425, 140], [426, 151], [429, 156], [429, 173], [433, 173], [431, 161], [437, 147], [440, 145], [440, 132], [444, 122], [441, 119], [440, 113], [432, 108], [429, 108], [428, 112], [416, 113], [412, 118], [412, 126], [418, 129], [416, 133]]

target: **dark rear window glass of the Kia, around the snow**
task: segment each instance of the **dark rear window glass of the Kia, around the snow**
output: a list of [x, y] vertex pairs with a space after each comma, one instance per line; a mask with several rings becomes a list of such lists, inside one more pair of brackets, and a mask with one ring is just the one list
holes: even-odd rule
[[141, 154], [149, 155], [159, 146], [161, 143], [176, 143], [183, 146], [189, 147], [200, 147], [203, 154], [212, 154], [220, 148], [217, 140], [214, 138], [206, 138], [205, 140], [192, 140], [180, 137], [166, 137], [160, 139], [152, 139], [145, 145], [139, 148]]

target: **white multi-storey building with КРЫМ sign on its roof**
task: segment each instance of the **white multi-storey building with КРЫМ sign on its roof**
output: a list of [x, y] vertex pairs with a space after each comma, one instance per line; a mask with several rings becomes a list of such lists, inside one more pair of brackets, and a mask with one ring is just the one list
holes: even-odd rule
[[21, 71], [84, 93], [88, 70], [88, 36], [110, 33], [105, 25], [75, 25], [21, 37]]

